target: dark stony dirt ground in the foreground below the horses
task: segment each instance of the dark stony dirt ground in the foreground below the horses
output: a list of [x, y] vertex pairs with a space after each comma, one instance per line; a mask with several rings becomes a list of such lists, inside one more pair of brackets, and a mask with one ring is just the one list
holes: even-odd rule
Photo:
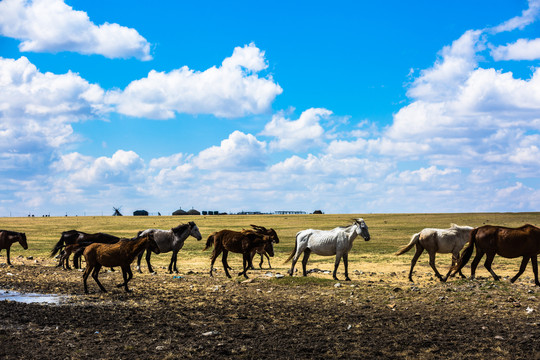
[[0, 358], [540, 358], [540, 289], [530, 268], [515, 284], [440, 283], [426, 268], [414, 284], [405, 271], [355, 270], [352, 282], [336, 282], [258, 270], [243, 282], [221, 270], [213, 278], [157, 270], [135, 273], [132, 293], [114, 286], [120, 271], [102, 270], [109, 292], [90, 278], [84, 295], [77, 270], [44, 259], [0, 264], [0, 295], [67, 295], [57, 305], [0, 301]]

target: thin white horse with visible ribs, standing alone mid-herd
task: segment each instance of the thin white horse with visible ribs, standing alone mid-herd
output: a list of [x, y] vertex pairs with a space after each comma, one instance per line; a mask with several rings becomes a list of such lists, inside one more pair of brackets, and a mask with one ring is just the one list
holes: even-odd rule
[[337, 227], [332, 230], [302, 230], [296, 234], [296, 243], [291, 256], [285, 261], [293, 259], [289, 275], [293, 275], [294, 266], [298, 261], [298, 258], [304, 253], [302, 259], [303, 275], [306, 276], [306, 264], [311, 252], [317, 255], [331, 256], [336, 255], [336, 262], [334, 264], [334, 273], [332, 277], [338, 280], [336, 277], [336, 271], [339, 266], [341, 258], [345, 264], [345, 280], [349, 279], [349, 251], [352, 248], [354, 239], [360, 235], [365, 241], [369, 241], [369, 231], [364, 219], [355, 219], [352, 225], [346, 227]]

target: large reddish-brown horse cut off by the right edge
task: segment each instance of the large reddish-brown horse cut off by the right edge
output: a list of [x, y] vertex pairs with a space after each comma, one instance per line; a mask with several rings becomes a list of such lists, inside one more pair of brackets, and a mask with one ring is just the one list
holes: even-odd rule
[[510, 279], [516, 281], [525, 271], [529, 260], [532, 262], [534, 283], [540, 286], [538, 281], [538, 254], [540, 253], [540, 229], [533, 225], [523, 225], [519, 228], [507, 228], [502, 226], [485, 225], [474, 229], [471, 238], [465, 246], [461, 259], [455, 266], [454, 273], [460, 271], [471, 258], [473, 247], [476, 246], [476, 256], [471, 264], [471, 279], [474, 279], [476, 267], [486, 254], [484, 266], [493, 276], [495, 281], [499, 276], [491, 269], [491, 263], [495, 254], [505, 258], [517, 258], [522, 256], [521, 266], [518, 273]]

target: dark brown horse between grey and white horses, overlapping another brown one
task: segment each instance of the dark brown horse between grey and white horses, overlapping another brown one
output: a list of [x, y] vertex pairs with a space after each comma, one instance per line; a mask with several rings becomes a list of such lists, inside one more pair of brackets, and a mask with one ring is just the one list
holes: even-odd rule
[[251, 252], [254, 249], [264, 247], [268, 243], [272, 243], [272, 238], [270, 236], [258, 234], [255, 231], [242, 232], [221, 230], [210, 234], [208, 240], [206, 240], [206, 247], [203, 249], [204, 251], [214, 245], [214, 251], [211, 255], [210, 276], [213, 276], [212, 270], [214, 269], [214, 262], [216, 261], [216, 258], [223, 252], [221, 262], [223, 263], [225, 274], [228, 278], [231, 277], [229, 274], [229, 264], [227, 263], [227, 256], [229, 251], [231, 251], [242, 254], [243, 271], [240, 272], [238, 276], [244, 275], [244, 277], [247, 279], [248, 276], [246, 273], [248, 266], [251, 264]]

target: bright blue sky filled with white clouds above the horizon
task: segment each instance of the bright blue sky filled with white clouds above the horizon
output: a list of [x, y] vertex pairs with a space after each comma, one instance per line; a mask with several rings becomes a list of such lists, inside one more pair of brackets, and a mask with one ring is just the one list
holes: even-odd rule
[[540, 0], [0, 1], [0, 216], [540, 210]]

